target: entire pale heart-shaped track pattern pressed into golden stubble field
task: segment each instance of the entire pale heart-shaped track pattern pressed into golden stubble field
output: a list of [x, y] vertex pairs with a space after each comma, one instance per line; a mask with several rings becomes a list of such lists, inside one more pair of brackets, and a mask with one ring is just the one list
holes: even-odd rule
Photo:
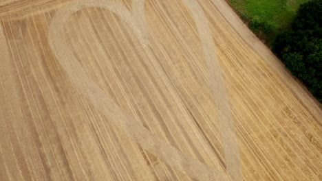
[[[210, 76], [209, 84], [211, 84], [213, 97], [216, 101], [227, 173], [233, 180], [241, 180], [239, 147], [235, 141], [231, 110], [228, 99], [226, 98], [226, 90], [222, 73], [219, 69], [217, 55], [213, 49], [214, 45], [209, 32], [208, 22], [202, 8], [195, 0], [184, 0], [184, 3], [192, 12], [208, 64]], [[182, 154], [178, 149], [152, 134], [147, 128], [144, 128], [136, 121], [133, 121], [133, 119], [127, 116], [109, 95], [87, 76], [85, 69], [83, 69], [72, 51], [69, 51], [67, 48], [67, 43], [63, 37], [63, 27], [69, 16], [78, 10], [88, 7], [105, 8], [120, 16], [120, 18], [127, 22], [133, 29], [133, 32], [138, 36], [138, 40], [140, 40], [144, 51], [151, 59], [153, 66], [160, 67], [160, 64], [153, 60], [153, 55], [147, 46], [149, 45], [149, 40], [147, 38], [147, 23], [144, 19], [144, 0], [133, 0], [133, 14], [120, 3], [103, 0], [76, 1], [76, 3], [69, 4], [56, 12], [52, 19], [52, 23], [50, 24], [49, 31], [50, 47], [56, 56], [56, 59], [61, 63], [76, 88], [90, 100], [97, 110], [100, 110], [100, 112], [111, 121], [112, 125], [127, 134], [129, 138], [138, 143], [142, 148], [157, 156], [163, 162], [171, 165], [171, 167], [174, 167], [178, 171], [182, 171], [191, 176], [191, 178], [197, 180], [227, 180], [228, 176], [226, 176], [226, 173], [216, 171], [199, 160]], [[161, 75], [164, 74], [162, 71], [159, 73]], [[169, 82], [169, 80], [166, 81]]]

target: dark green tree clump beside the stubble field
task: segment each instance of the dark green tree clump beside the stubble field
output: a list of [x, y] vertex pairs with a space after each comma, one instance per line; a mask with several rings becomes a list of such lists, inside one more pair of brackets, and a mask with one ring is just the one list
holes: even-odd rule
[[292, 74], [322, 101], [322, 1], [301, 5], [290, 30], [279, 34], [272, 48]]

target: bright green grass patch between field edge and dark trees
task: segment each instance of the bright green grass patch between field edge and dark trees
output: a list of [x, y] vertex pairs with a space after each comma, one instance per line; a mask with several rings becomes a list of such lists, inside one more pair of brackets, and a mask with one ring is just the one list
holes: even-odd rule
[[308, 0], [229, 0], [248, 27], [268, 45], [290, 28], [299, 5]]

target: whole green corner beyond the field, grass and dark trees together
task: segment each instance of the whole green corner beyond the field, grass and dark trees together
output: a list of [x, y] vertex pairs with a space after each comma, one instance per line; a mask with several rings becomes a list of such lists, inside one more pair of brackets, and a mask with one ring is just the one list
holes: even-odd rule
[[248, 27], [322, 102], [322, 0], [229, 2]]

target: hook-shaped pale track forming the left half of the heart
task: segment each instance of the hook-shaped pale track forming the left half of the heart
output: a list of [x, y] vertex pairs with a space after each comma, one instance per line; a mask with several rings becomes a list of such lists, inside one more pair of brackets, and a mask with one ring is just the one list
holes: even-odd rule
[[182, 171], [191, 176], [191, 178], [197, 180], [227, 180], [228, 178], [224, 173], [216, 171], [190, 156], [185, 156], [166, 141], [162, 141], [158, 136], [152, 134], [147, 128], [140, 125], [140, 123], [130, 119], [122, 112], [113, 99], [87, 76], [87, 73], [81, 64], [76, 60], [72, 52], [68, 50], [68, 46], [63, 40], [64, 37], [62, 37], [63, 27], [69, 16], [74, 12], [87, 7], [105, 8], [118, 14], [124, 21], [129, 23], [144, 46], [142, 32], [140, 32], [135, 19], [133, 19], [131, 13], [119, 3], [101, 0], [83, 0], [59, 10], [56, 12], [50, 24], [48, 35], [49, 43], [58, 62], [61, 63], [78, 90], [80, 90], [87, 99], [92, 101], [94, 107], [100, 110], [113, 125], [122, 130], [122, 132], [125, 132], [127, 136], [140, 144], [148, 152], [151, 152], [151, 154], [158, 156], [163, 162], [171, 165], [171, 167], [174, 167], [178, 171]]

